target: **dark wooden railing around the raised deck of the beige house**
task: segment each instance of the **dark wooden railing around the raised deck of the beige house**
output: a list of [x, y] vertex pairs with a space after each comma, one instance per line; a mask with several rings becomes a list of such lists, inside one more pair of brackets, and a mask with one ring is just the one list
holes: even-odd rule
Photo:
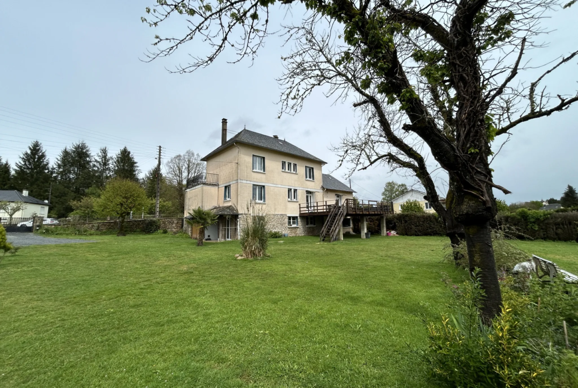
[[[327, 216], [338, 201], [321, 201], [310, 204], [299, 204], [299, 216]], [[393, 213], [386, 202], [365, 201], [363, 199], [346, 199], [343, 201], [345, 216], [381, 216]]]

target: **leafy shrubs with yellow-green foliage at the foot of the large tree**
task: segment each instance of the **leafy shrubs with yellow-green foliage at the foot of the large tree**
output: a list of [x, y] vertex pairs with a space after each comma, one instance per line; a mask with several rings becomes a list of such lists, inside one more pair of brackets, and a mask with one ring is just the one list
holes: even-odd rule
[[528, 293], [502, 283], [503, 307], [491, 326], [479, 315], [478, 280], [453, 286], [441, 323], [429, 323], [425, 353], [433, 378], [452, 387], [576, 387], [578, 357], [565, 349], [562, 322], [576, 343], [576, 286], [532, 280]]

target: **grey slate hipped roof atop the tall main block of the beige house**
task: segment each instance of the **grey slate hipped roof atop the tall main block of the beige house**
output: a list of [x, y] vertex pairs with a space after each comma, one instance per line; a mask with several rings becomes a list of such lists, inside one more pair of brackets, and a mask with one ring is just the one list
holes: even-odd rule
[[224, 149], [227, 149], [228, 147], [232, 146], [233, 143], [243, 143], [250, 146], [261, 147], [273, 151], [279, 151], [289, 155], [299, 156], [305, 159], [310, 159], [325, 164], [325, 162], [320, 158], [314, 157], [312, 154], [303, 151], [301, 148], [292, 145], [290, 142], [284, 141], [282, 139], [273, 138], [273, 136], [258, 134], [257, 132], [249, 130], [240, 131], [238, 134], [229, 139], [227, 143], [218, 146], [216, 149], [214, 149], [207, 156], [203, 157], [201, 160], [206, 162], [208, 158], [212, 157], [214, 154], [219, 153], [220, 151], [223, 151]]

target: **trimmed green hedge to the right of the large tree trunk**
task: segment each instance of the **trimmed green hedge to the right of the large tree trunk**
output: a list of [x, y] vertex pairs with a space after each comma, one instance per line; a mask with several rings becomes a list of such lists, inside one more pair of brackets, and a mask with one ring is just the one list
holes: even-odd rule
[[[520, 212], [525, 210], [525, 212]], [[540, 210], [520, 209], [515, 213], [501, 213], [496, 217], [498, 226], [513, 228], [519, 233], [514, 237], [524, 239], [578, 242], [578, 212], [550, 213]], [[534, 212], [542, 213], [536, 216]]]

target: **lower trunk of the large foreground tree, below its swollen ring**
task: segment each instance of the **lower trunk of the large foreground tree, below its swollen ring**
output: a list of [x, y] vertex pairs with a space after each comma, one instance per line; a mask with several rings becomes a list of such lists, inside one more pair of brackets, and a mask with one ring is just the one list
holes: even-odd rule
[[502, 306], [502, 293], [494, 260], [490, 223], [468, 225], [464, 227], [464, 230], [468, 244], [470, 274], [475, 268], [480, 269], [480, 282], [486, 293], [481, 316], [484, 323], [490, 324], [491, 320], [499, 314]]

